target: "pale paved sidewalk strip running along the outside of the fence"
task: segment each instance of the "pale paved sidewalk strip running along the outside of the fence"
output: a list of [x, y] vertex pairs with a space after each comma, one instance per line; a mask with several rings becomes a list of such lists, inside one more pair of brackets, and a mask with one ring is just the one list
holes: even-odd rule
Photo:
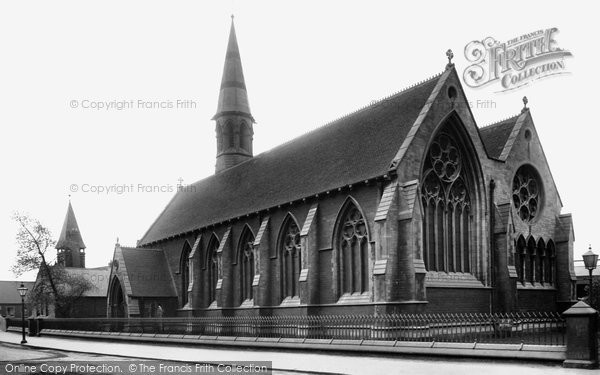
[[[0, 332], [0, 341], [18, 344], [21, 336]], [[118, 355], [168, 361], [219, 363], [230, 361], [272, 361], [273, 368], [333, 374], [423, 374], [448, 375], [553, 375], [594, 374], [596, 371], [565, 369], [556, 363], [527, 363], [498, 360], [457, 360], [455, 358], [359, 356], [331, 353], [227, 350], [176, 345], [124, 343], [56, 337], [28, 337], [29, 346], [73, 352]]]

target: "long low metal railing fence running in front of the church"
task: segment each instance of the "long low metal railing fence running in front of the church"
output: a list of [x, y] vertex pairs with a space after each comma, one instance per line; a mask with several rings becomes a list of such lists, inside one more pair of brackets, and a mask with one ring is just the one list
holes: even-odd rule
[[[35, 322], [35, 323], [34, 323]], [[558, 313], [32, 319], [39, 329], [306, 339], [565, 345]], [[19, 326], [10, 319], [8, 325]], [[37, 331], [37, 329], [36, 329]]]

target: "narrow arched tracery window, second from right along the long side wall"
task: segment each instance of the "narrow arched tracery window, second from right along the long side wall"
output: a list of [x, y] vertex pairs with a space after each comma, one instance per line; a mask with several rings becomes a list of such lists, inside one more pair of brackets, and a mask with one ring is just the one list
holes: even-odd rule
[[298, 296], [300, 278], [300, 229], [290, 216], [286, 219], [281, 241], [282, 297]]

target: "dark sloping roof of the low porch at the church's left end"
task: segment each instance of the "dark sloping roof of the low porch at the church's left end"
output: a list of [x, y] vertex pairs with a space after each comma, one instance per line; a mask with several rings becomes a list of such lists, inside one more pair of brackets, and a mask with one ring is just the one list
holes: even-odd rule
[[177, 297], [162, 250], [121, 247], [133, 297]]

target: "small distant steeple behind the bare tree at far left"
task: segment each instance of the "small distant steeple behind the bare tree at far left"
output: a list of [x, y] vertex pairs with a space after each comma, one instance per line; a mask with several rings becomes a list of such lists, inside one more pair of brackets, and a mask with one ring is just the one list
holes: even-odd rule
[[65, 267], [85, 268], [85, 244], [83, 238], [81, 238], [70, 200], [67, 215], [56, 242], [56, 250], [58, 251], [56, 258], [59, 264]]

